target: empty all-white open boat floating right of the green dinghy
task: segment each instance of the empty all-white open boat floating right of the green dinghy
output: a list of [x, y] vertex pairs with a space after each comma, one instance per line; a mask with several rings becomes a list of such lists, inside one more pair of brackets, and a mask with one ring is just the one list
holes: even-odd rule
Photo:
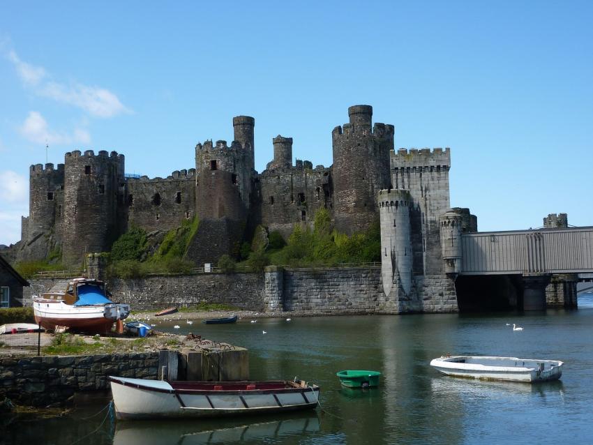
[[507, 382], [544, 382], [560, 379], [564, 362], [497, 356], [448, 356], [430, 361], [446, 375]]

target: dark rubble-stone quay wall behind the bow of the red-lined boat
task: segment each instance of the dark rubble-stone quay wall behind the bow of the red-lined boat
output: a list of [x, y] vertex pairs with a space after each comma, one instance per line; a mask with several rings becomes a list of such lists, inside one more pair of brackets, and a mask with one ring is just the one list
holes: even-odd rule
[[156, 379], [158, 352], [0, 358], [0, 400], [58, 406], [79, 391], [109, 389], [107, 375]]

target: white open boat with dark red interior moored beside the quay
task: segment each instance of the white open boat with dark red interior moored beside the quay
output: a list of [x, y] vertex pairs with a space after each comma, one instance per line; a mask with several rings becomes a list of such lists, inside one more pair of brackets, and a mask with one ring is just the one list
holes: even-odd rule
[[313, 409], [320, 387], [302, 380], [165, 382], [107, 377], [118, 419], [190, 418]]

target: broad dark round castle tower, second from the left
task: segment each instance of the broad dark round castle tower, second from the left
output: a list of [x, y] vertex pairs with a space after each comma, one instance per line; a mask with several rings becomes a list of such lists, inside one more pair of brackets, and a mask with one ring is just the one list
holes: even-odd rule
[[105, 252], [119, 236], [124, 158], [115, 151], [66, 153], [63, 261], [81, 263], [86, 253]]

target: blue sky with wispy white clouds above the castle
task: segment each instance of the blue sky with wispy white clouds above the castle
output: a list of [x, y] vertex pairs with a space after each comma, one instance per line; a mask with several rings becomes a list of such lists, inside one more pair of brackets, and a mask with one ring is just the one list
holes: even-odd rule
[[[283, 4], [287, 3], [287, 4]], [[288, 4], [290, 3], [290, 4]], [[451, 147], [451, 205], [480, 230], [593, 225], [593, 2], [6, 1], [0, 14], [0, 243], [20, 239], [29, 165], [115, 150], [126, 172], [194, 166], [255, 117], [331, 165], [347, 107], [396, 148]]]

